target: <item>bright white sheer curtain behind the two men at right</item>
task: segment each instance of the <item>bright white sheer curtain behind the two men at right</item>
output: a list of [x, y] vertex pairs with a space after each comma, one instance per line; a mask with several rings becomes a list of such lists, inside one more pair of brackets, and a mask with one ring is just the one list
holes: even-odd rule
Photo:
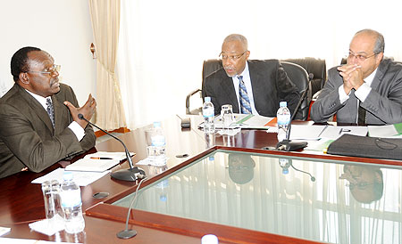
[[118, 72], [130, 128], [185, 113], [201, 88], [202, 63], [231, 33], [248, 39], [250, 59], [316, 57], [339, 64], [354, 33], [373, 28], [385, 55], [402, 61], [395, 1], [121, 0]]

